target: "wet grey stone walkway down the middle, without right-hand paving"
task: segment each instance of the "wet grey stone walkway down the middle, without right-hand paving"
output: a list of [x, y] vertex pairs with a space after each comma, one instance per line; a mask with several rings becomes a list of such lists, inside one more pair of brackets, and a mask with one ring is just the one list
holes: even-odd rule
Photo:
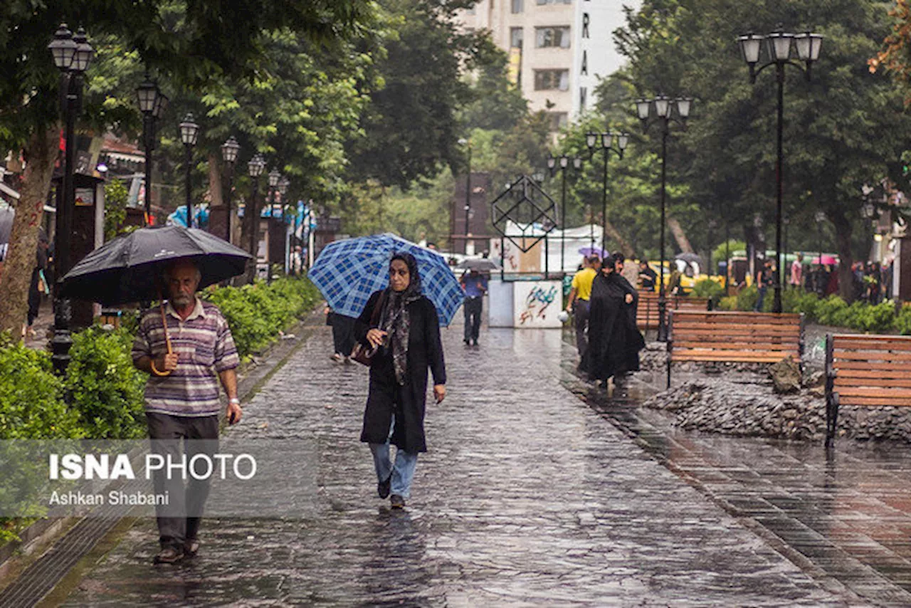
[[[206, 520], [200, 556], [174, 567], [150, 564], [154, 521], [139, 520], [67, 605], [864, 604], [662, 466], [647, 433], [574, 396], [557, 332], [485, 331], [466, 348], [454, 327], [444, 341], [449, 395], [428, 404], [431, 451], [407, 510], [376, 498], [357, 440], [366, 370], [333, 364], [320, 328], [229, 431], [315, 442], [317, 515]], [[707, 458], [682, 453], [694, 468]], [[769, 463], [780, 479], [801, 476], [784, 465], [801, 463]]]

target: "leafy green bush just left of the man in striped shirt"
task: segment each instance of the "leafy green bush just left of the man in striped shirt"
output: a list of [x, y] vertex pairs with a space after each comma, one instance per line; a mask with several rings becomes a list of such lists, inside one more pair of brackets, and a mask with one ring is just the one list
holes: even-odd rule
[[90, 327], [73, 336], [67, 394], [88, 438], [145, 437], [147, 376], [133, 366], [132, 343], [133, 335], [124, 328]]

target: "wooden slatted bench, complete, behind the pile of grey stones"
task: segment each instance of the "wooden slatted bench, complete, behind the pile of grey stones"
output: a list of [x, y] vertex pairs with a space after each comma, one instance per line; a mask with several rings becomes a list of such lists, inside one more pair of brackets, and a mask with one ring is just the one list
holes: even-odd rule
[[674, 361], [799, 362], [804, 354], [803, 314], [676, 310], [668, 328], [668, 388]]

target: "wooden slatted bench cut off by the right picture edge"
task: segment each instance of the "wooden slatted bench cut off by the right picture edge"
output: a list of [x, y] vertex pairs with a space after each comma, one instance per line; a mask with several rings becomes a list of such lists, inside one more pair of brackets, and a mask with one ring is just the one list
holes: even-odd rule
[[825, 445], [838, 427], [839, 406], [911, 406], [911, 337], [825, 336]]

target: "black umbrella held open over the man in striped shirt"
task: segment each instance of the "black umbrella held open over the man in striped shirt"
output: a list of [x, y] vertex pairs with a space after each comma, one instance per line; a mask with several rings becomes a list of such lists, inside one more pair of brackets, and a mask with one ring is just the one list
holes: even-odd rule
[[77, 263], [63, 278], [61, 294], [106, 306], [158, 300], [161, 272], [178, 258], [196, 262], [202, 289], [243, 273], [251, 255], [195, 228], [140, 228], [105, 243]]

